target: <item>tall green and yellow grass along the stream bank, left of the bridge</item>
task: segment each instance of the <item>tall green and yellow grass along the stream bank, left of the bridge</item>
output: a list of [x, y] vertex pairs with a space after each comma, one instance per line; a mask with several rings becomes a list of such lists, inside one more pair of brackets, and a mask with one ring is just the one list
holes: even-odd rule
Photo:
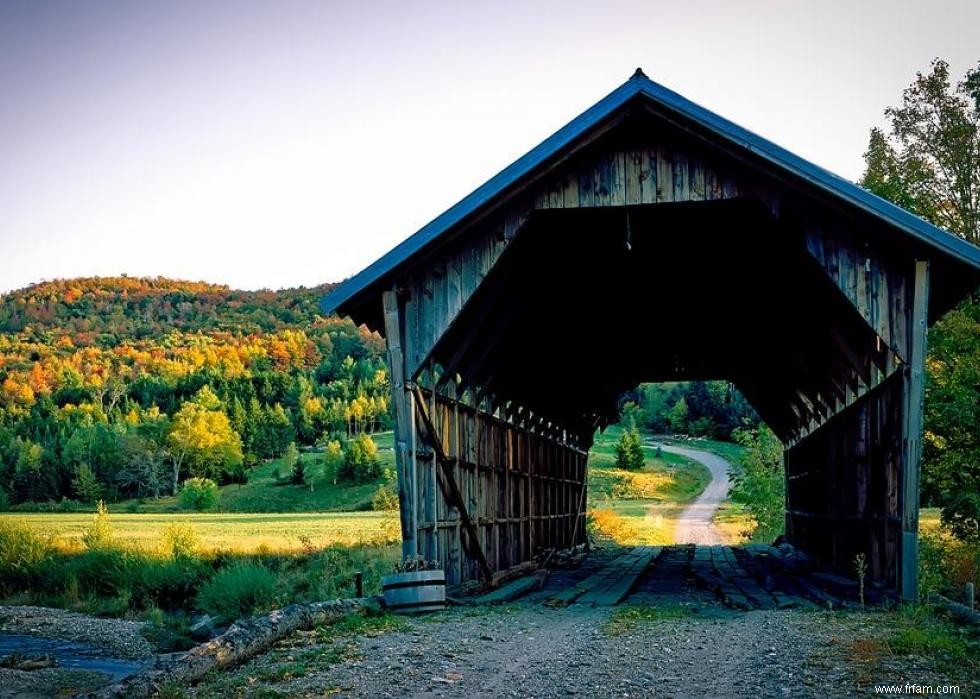
[[[104, 516], [91, 528], [105, 525]], [[355, 572], [363, 573], [367, 594], [378, 593], [399, 557], [393, 532], [383, 529], [349, 545], [318, 547], [307, 537], [303, 552], [207, 549], [187, 524], [169, 528], [155, 547], [86, 538], [98, 544], [55, 547], [28, 524], [0, 521], [0, 595], [107, 615], [211, 611], [231, 620], [273, 605], [351, 596]]]

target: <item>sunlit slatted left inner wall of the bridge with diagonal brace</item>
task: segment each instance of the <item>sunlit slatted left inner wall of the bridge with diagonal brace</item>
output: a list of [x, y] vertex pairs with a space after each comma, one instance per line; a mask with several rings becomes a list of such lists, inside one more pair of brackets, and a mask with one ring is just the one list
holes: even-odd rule
[[[586, 452], [465, 400], [428, 389], [421, 394], [491, 569], [584, 541]], [[436, 450], [421, 426], [416, 445], [415, 553], [442, 563], [452, 584], [479, 579], [477, 559], [466, 552], [461, 512], [445, 497]]]

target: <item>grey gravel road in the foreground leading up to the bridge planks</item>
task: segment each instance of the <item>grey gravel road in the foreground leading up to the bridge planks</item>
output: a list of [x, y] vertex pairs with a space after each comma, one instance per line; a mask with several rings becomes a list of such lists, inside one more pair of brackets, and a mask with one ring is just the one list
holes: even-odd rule
[[[969, 694], [969, 678], [945, 677], [915, 659], [869, 663], [856, 655], [854, 648], [863, 646], [849, 639], [873, 632], [886, 617], [880, 613], [742, 613], [714, 605], [628, 625], [624, 609], [454, 609], [404, 631], [335, 639], [348, 658], [336, 664], [297, 668], [300, 649], [289, 649], [285, 661], [269, 654], [192, 691], [207, 697], [827, 697], [873, 694], [871, 683], [878, 681], [958, 680]], [[328, 644], [320, 657], [330, 650]]]

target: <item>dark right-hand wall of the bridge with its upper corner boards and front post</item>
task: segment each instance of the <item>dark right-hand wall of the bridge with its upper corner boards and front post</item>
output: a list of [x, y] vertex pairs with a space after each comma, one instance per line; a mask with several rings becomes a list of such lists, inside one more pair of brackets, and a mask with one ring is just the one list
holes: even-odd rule
[[916, 599], [928, 263], [856, 241], [829, 226], [806, 235], [875, 343], [842, 348], [843, 401], [786, 452], [786, 533], [844, 574], [864, 553], [872, 580]]

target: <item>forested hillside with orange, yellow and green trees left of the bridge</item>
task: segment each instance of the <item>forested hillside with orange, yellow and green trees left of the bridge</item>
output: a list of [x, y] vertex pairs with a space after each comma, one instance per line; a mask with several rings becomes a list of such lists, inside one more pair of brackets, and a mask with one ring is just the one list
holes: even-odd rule
[[320, 315], [329, 286], [163, 278], [0, 297], [0, 505], [242, 482], [291, 445], [384, 427], [384, 341]]

